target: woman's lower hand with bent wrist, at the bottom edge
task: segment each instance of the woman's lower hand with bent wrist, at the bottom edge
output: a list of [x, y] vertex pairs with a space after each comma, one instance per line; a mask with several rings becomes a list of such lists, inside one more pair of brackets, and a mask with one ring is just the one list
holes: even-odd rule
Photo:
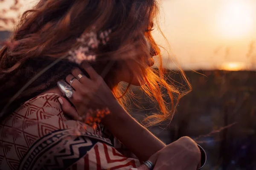
[[[200, 167], [201, 153], [192, 139], [182, 137], [159, 150], [148, 160], [154, 164], [154, 170], [196, 170]], [[143, 164], [138, 170], [149, 169]]]

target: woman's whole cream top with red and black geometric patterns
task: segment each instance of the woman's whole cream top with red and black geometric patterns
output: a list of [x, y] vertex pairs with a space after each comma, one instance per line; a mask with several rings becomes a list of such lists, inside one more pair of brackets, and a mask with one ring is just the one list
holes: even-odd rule
[[58, 97], [44, 94], [30, 99], [0, 122], [0, 170], [128, 170], [140, 166], [139, 160], [124, 156], [112, 145], [116, 140], [67, 119]]

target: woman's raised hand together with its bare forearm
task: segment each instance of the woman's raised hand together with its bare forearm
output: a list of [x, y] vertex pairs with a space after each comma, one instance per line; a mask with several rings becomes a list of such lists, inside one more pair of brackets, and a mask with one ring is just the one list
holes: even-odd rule
[[[102, 119], [102, 124], [142, 161], [166, 146], [122, 108], [110, 88], [92, 67], [89, 65], [82, 67], [87, 71], [90, 79], [82, 77], [80, 82], [73, 81], [72, 86], [75, 91], [70, 99], [73, 105], [64, 97], [59, 97], [65, 114], [81, 121], [81, 117], [86, 116], [88, 108], [108, 108], [111, 113]], [[72, 75], [66, 77], [67, 82], [79, 74], [81, 71], [76, 68], [72, 71]]]

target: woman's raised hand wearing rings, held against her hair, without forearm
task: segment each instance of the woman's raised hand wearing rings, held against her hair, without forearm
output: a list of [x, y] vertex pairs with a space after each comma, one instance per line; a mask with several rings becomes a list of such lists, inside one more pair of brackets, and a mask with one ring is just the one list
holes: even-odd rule
[[[95, 111], [96, 109], [108, 108], [113, 111], [116, 108], [122, 108], [103, 78], [86, 63], [82, 64], [82, 68], [89, 74], [90, 78], [83, 76], [80, 80], [75, 79], [73, 81], [72, 87], [75, 91], [73, 91], [73, 97], [69, 100], [75, 108], [65, 98], [61, 97], [61, 102], [64, 102], [62, 105], [63, 111], [73, 119], [81, 120], [81, 117], [87, 116], [88, 109]], [[73, 77], [78, 77], [81, 73], [82, 71], [79, 68], [75, 68], [72, 74], [66, 77], [66, 81], [70, 84], [70, 80]]]

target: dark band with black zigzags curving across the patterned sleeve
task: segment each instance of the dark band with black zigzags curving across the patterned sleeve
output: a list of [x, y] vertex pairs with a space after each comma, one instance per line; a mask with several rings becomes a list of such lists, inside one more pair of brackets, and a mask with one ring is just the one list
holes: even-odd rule
[[86, 155], [97, 142], [111, 145], [109, 139], [84, 132], [74, 136], [73, 129], [56, 130], [35, 142], [20, 161], [19, 170], [62, 170]]

